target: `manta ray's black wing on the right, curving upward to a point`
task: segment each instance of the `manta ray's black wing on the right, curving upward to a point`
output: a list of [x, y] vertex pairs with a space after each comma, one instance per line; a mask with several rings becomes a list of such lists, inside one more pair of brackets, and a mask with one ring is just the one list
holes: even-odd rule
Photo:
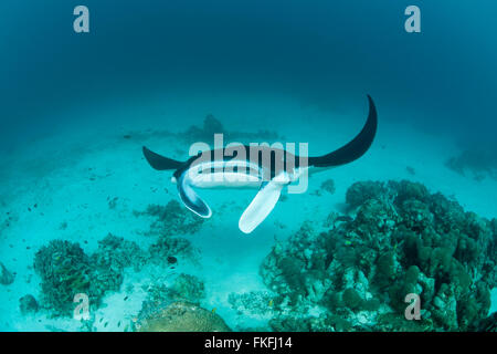
[[362, 131], [347, 145], [340, 147], [339, 149], [329, 153], [327, 155], [318, 157], [309, 157], [309, 166], [315, 167], [334, 167], [351, 163], [362, 155], [371, 146], [374, 136], [377, 135], [378, 117], [377, 108], [374, 107], [374, 102], [368, 95], [369, 101], [369, 116], [366, 121]]

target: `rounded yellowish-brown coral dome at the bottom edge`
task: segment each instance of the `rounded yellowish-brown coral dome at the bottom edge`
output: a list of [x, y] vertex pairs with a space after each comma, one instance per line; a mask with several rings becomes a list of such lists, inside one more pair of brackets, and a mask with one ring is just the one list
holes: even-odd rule
[[149, 315], [141, 314], [135, 326], [140, 332], [230, 331], [230, 327], [213, 311], [183, 301], [173, 302]]

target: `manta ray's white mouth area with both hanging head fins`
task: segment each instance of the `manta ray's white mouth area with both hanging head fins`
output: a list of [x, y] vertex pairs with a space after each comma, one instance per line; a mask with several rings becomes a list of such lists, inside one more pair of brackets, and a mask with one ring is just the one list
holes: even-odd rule
[[260, 188], [260, 191], [242, 214], [240, 230], [252, 232], [271, 214], [279, 199], [283, 187], [289, 183], [284, 174], [269, 181], [263, 181], [263, 170], [247, 162], [203, 163], [189, 168], [180, 177], [179, 191], [183, 204], [203, 218], [212, 211], [193, 190], [197, 188]]

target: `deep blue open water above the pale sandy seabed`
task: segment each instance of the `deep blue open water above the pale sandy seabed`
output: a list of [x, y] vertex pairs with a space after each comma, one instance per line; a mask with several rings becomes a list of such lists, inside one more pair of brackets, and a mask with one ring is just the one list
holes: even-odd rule
[[[77, 4], [89, 8], [89, 34], [73, 32]], [[422, 33], [404, 31], [409, 4]], [[370, 93], [398, 121], [493, 142], [496, 10], [491, 0], [3, 0], [0, 143], [88, 124], [61, 119], [67, 107], [226, 90], [335, 110]]]

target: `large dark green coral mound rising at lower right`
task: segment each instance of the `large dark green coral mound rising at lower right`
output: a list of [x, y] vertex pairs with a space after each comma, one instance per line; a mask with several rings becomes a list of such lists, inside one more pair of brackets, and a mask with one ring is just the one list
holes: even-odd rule
[[[406, 180], [356, 183], [347, 202], [353, 218], [325, 230], [305, 222], [263, 261], [278, 294], [273, 330], [467, 331], [486, 317], [497, 220]], [[404, 316], [410, 293], [421, 320]]]

